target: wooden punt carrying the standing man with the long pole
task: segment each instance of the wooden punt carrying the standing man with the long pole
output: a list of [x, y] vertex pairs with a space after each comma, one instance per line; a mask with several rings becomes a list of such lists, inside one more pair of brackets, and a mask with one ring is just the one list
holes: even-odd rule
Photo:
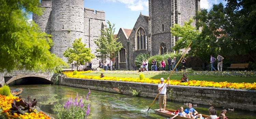
[[[160, 109], [155, 109], [154, 111], [160, 115], [166, 116], [166, 117], [173, 117], [175, 114], [174, 112], [176, 110], [173, 109], [165, 109], [165, 112], [163, 112], [163, 109], [161, 109], [162, 111], [159, 111]], [[203, 118], [207, 118], [209, 115], [202, 115]], [[187, 118], [187, 117], [182, 117], [182, 116], [177, 116], [175, 117], [175, 119], [191, 119], [191, 118]]]

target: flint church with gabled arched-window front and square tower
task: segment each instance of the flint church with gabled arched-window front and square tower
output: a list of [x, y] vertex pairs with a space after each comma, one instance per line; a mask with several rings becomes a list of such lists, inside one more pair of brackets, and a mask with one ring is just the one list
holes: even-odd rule
[[117, 67], [133, 69], [134, 57], [140, 53], [172, 52], [177, 38], [171, 35], [170, 27], [184, 25], [199, 10], [200, 0], [148, 0], [149, 16], [140, 13], [133, 29], [119, 29], [117, 41], [123, 48], [115, 59]]

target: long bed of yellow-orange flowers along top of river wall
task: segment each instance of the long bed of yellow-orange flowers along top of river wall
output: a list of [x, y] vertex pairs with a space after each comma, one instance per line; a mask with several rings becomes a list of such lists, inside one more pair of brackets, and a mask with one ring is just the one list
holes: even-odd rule
[[[115, 71], [113, 71], [113, 72], [115, 72]], [[130, 72], [130, 71], [128, 71], [128, 72]], [[146, 71], [146, 72], [158, 72], [158, 71]], [[143, 80], [140, 80], [140, 78], [130, 78], [130, 77], [119, 78], [119, 77], [107, 77], [107, 76], [100, 78], [99, 76], [82, 75], [82, 73], [80, 73], [80, 72], [78, 72], [77, 75], [72, 75], [73, 74], [72, 71], [65, 71], [63, 73], [67, 77], [79, 78], [79, 79], [112, 80], [112, 81], [120, 81], [121, 80], [121, 81], [127, 81], [127, 82], [154, 83], [154, 84], [160, 83], [159, 79], [145, 78]], [[183, 86], [201, 86], [201, 87], [218, 87], [218, 88], [256, 90], [255, 82], [254, 83], [229, 83], [229, 82], [212, 82], [212, 81], [196, 81], [196, 80], [189, 80], [187, 82], [181, 82], [180, 80], [171, 80], [170, 84], [171, 85], [183, 85]]]

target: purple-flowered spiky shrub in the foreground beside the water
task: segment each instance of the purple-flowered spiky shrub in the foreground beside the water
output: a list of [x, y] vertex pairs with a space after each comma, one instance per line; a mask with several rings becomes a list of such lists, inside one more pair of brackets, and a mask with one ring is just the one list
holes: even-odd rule
[[87, 100], [89, 94], [90, 90], [85, 98], [87, 102], [83, 102], [83, 98], [81, 98], [78, 102], [77, 94], [74, 100], [72, 98], [69, 98], [69, 100], [65, 104], [63, 104], [63, 106], [59, 103], [55, 105], [54, 112], [57, 112], [58, 119], [87, 119], [90, 113], [90, 103]]

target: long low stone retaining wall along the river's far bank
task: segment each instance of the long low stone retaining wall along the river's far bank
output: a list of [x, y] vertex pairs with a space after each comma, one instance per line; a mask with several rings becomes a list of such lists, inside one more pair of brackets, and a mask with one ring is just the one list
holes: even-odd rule
[[[140, 90], [139, 96], [150, 98], [155, 98], [158, 94], [158, 84], [150, 83], [76, 79], [66, 78], [64, 75], [59, 75], [59, 82], [60, 85], [119, 92], [128, 95], [132, 95], [130, 90], [135, 89], [137, 91]], [[172, 100], [177, 102], [190, 102], [192, 104], [212, 105], [256, 112], [255, 90], [170, 85], [167, 87], [167, 95], [170, 94], [170, 90], [172, 91]], [[168, 97], [167, 99], [170, 98]]]

